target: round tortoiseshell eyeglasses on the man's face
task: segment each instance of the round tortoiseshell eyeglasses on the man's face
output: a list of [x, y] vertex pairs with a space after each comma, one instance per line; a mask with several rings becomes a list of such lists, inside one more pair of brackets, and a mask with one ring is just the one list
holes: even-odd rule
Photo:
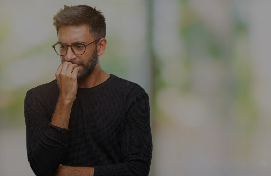
[[[92, 43], [95, 43], [97, 41], [99, 41], [101, 38], [99, 38], [98, 40], [95, 40], [87, 45], [90, 45]], [[68, 47], [70, 46], [71, 47], [71, 50], [74, 54], [76, 55], [82, 55], [85, 53], [86, 51], [86, 46], [85, 44], [81, 43], [81, 42], [76, 42], [76, 43], [73, 43], [71, 45], [66, 45], [64, 43], [61, 43], [61, 42], [57, 42], [55, 43], [52, 47], [54, 48], [54, 50], [56, 51], [56, 53], [60, 56], [64, 56], [67, 54], [68, 52]]]

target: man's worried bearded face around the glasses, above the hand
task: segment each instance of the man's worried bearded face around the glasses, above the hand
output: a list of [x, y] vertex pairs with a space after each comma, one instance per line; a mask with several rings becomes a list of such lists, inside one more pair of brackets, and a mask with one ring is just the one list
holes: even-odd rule
[[[96, 40], [89, 33], [89, 26], [85, 24], [81, 26], [61, 26], [58, 30], [57, 37], [58, 42], [62, 42], [66, 45], [71, 45], [75, 42], [89, 44]], [[62, 62], [69, 61], [79, 66], [77, 79], [81, 80], [91, 74], [98, 62], [97, 45], [95, 45], [95, 43], [87, 45], [86, 51], [82, 55], [75, 55], [71, 47], [68, 47], [67, 54], [60, 57]]]

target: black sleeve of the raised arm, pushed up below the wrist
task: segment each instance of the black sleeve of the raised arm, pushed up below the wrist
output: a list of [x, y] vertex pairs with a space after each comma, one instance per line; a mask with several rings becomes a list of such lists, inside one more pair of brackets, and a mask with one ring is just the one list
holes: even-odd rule
[[51, 124], [38, 93], [27, 91], [24, 100], [27, 159], [36, 175], [53, 175], [62, 162], [69, 130]]

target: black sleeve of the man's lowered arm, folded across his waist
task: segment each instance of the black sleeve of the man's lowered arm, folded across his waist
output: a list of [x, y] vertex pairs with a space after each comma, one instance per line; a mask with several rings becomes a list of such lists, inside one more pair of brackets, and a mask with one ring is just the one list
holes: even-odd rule
[[94, 166], [94, 176], [147, 176], [152, 157], [150, 106], [147, 93], [134, 98], [126, 107], [121, 136], [122, 162]]

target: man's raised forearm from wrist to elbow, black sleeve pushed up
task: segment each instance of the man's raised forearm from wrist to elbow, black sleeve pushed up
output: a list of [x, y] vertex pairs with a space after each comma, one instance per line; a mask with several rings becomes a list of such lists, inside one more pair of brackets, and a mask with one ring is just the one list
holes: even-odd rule
[[[54, 173], [67, 147], [67, 132], [73, 102], [58, 99], [49, 128], [28, 155], [29, 163], [37, 174]], [[52, 175], [51, 174], [51, 175]]]

